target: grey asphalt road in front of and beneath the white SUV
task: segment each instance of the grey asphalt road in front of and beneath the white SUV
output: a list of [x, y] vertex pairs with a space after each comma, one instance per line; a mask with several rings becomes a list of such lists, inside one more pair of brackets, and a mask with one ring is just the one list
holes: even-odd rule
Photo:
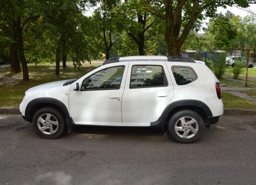
[[19, 115], [0, 116], [0, 184], [255, 183], [256, 116], [225, 116], [196, 144], [148, 128], [76, 128], [45, 140]]

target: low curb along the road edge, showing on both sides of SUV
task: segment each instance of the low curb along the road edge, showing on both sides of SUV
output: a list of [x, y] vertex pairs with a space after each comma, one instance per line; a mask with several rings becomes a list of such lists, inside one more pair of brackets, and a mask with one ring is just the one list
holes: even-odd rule
[[[19, 108], [0, 108], [0, 114], [20, 114]], [[256, 115], [256, 110], [244, 108], [225, 108], [224, 115]]]

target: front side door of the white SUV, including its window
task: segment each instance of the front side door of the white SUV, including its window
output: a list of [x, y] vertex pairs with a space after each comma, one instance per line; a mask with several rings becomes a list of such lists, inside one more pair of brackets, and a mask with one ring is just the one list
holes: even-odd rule
[[121, 102], [127, 66], [100, 67], [80, 80], [79, 91], [70, 90], [70, 114], [75, 124], [122, 124]]

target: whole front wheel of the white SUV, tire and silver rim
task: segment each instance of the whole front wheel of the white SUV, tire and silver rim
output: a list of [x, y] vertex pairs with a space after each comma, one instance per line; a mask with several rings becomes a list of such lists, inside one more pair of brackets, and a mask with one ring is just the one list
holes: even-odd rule
[[36, 133], [42, 138], [61, 137], [65, 131], [65, 119], [55, 108], [40, 108], [33, 117]]

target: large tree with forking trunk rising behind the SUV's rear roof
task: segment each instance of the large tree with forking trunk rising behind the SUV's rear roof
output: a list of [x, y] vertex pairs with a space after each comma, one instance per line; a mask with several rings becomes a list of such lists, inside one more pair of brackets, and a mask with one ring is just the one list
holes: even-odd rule
[[168, 47], [168, 54], [179, 56], [180, 48], [188, 38], [191, 29], [200, 24], [204, 17], [215, 17], [218, 7], [232, 6], [237, 4], [241, 7], [247, 7], [250, 1], [232, 0], [232, 1], [199, 1], [199, 0], [164, 0], [154, 1], [145, 0], [148, 11], [154, 13], [165, 22], [165, 40]]

